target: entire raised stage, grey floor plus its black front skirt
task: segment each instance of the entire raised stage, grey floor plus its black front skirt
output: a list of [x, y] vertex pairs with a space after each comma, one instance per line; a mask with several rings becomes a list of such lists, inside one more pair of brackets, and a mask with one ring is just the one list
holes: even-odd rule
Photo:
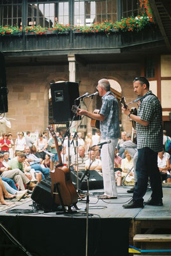
[[[122, 207], [132, 196], [126, 193], [127, 190], [117, 187], [118, 198], [111, 200], [98, 200], [97, 196], [103, 193], [103, 189], [90, 190], [89, 218], [85, 211], [86, 196], [78, 200], [79, 210], [72, 214], [42, 210], [28, 213], [34, 209], [33, 200], [22, 199], [17, 205], [5, 206], [6, 209], [0, 205], [1, 223], [29, 252], [34, 252], [33, 255], [82, 256], [87, 242], [88, 256], [127, 256], [129, 244], [133, 245], [135, 234], [141, 234], [141, 227], [171, 227], [171, 188], [163, 187], [162, 207], [146, 205], [144, 209]], [[150, 195], [151, 190], [147, 191], [144, 200]], [[0, 255], [26, 255], [22, 250], [4, 244], [13, 243], [0, 230]]]

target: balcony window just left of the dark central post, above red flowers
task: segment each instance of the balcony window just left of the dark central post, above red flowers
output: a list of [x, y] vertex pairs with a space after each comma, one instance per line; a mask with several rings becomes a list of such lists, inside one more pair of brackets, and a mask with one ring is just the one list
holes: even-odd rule
[[55, 22], [64, 25], [69, 23], [68, 1], [28, 1], [27, 26], [52, 28]]

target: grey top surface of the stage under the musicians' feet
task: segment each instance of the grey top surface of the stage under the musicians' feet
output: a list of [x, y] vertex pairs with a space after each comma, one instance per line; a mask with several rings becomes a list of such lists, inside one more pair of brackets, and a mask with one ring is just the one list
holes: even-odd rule
[[[124, 209], [122, 207], [123, 204], [126, 204], [131, 199], [132, 194], [126, 193], [128, 188], [117, 187], [118, 198], [110, 199], [110, 200], [98, 200], [98, 194], [103, 193], [103, 189], [89, 190], [89, 214], [91, 214], [91, 218], [131, 218], [136, 220], [171, 220], [170, 210], [171, 210], [171, 187], [163, 188], [163, 206], [155, 207], [155, 206], [147, 206], [143, 209]], [[86, 191], [84, 191], [86, 193]], [[151, 190], [148, 189], [147, 193], [144, 196], [144, 200], [148, 200], [151, 195]], [[16, 216], [19, 214], [8, 213], [7, 210], [13, 209], [27, 209], [31, 210], [33, 207], [33, 200], [31, 198], [26, 198], [20, 200], [20, 202], [15, 202], [14, 200], [9, 200], [12, 202], [11, 206], [0, 205], [0, 216]], [[15, 205], [17, 204], [17, 205]], [[77, 203], [78, 211], [73, 212], [73, 214], [63, 214], [61, 212], [44, 212], [43, 210], [38, 211], [38, 216], [46, 217], [46, 216], [56, 216], [56, 217], [77, 217], [77, 214], [80, 217], [84, 218], [84, 213], [86, 213], [85, 208], [87, 207], [86, 196], [82, 200], [78, 200]], [[2, 209], [2, 210], [1, 210]], [[157, 210], [157, 211], [156, 211]], [[22, 214], [21, 214], [22, 215]], [[36, 212], [33, 214], [24, 214], [24, 216], [36, 216]]]

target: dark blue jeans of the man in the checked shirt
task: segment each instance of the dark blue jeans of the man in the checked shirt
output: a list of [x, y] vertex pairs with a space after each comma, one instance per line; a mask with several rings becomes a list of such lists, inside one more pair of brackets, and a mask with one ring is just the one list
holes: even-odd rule
[[158, 153], [145, 147], [138, 149], [136, 165], [137, 186], [133, 192], [133, 200], [143, 202], [147, 191], [148, 178], [151, 182], [152, 201], [159, 202], [163, 198], [161, 175], [158, 168]]

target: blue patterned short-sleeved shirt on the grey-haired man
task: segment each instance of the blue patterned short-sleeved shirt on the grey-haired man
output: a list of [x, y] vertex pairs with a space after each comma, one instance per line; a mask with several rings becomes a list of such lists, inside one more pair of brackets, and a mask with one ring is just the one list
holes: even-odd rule
[[100, 114], [105, 116], [103, 122], [100, 121], [101, 139], [117, 139], [120, 136], [119, 129], [119, 106], [114, 93], [108, 91], [103, 97]]

